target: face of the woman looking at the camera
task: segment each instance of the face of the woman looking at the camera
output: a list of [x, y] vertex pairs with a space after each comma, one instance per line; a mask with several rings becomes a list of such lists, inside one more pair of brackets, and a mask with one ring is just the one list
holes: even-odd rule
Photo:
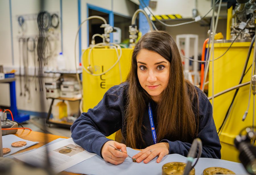
[[141, 49], [136, 59], [139, 82], [157, 103], [168, 85], [170, 62], [160, 54], [147, 49]]

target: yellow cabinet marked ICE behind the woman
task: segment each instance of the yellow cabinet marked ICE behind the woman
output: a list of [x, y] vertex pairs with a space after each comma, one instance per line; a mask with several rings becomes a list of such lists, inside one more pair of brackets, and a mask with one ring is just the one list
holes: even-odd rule
[[[85, 68], [88, 67], [89, 50], [90, 49], [87, 49], [82, 57]], [[122, 48], [122, 55], [120, 58], [122, 82], [126, 80], [131, 68], [132, 51], [133, 49], [131, 48]], [[94, 69], [94, 74], [100, 74], [107, 71], [116, 61], [116, 50], [112, 48], [93, 48], [90, 54], [90, 63]], [[89, 108], [96, 106], [110, 87], [120, 83], [119, 63], [117, 63], [109, 72], [101, 76], [92, 76], [83, 70], [82, 85], [84, 112], [87, 112]], [[114, 140], [114, 135], [111, 135], [108, 138]]]

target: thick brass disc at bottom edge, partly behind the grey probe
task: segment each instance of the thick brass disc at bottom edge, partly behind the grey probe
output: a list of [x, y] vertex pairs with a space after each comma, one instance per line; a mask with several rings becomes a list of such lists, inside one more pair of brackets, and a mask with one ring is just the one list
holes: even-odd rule
[[[169, 162], [162, 166], [162, 175], [183, 175], [186, 163], [183, 162]], [[189, 175], [195, 175], [195, 168], [193, 168]]]

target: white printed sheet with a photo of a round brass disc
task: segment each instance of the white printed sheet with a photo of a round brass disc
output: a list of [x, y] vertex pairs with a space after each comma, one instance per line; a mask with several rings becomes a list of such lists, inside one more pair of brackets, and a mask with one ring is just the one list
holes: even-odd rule
[[94, 153], [85, 151], [80, 146], [75, 144], [72, 138], [68, 138], [49, 146], [39, 148], [22, 155], [14, 156], [14, 158], [30, 165], [43, 165], [46, 162], [46, 148], [51, 167], [56, 173], [96, 155]]

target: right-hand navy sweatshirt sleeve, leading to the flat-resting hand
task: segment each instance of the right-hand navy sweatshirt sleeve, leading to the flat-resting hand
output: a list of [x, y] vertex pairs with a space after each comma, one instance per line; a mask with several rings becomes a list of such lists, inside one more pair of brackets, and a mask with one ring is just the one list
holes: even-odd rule
[[[212, 105], [206, 97], [200, 101], [200, 99], [203, 98], [202, 95], [205, 96], [204, 94], [199, 95], [200, 121], [198, 136], [203, 144], [201, 157], [220, 159], [221, 145], [212, 117]], [[183, 156], [187, 156], [189, 149], [191, 147], [191, 143], [181, 142], [179, 140], [174, 142], [171, 142], [169, 140], [161, 140], [160, 142], [169, 143], [169, 154], [176, 153]]]

